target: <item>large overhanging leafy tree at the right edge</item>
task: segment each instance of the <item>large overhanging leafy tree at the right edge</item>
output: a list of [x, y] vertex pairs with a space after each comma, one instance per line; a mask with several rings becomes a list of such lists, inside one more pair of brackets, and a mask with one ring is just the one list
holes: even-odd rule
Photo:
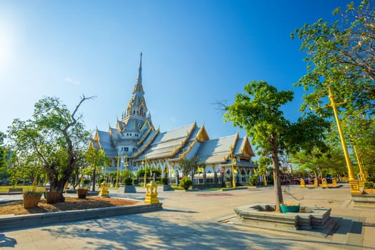
[[[301, 109], [324, 106], [329, 89], [337, 103], [346, 102], [339, 108], [341, 125], [346, 141], [353, 139], [365, 166], [375, 163], [374, 6], [373, 0], [361, 1], [358, 6], [351, 2], [346, 11], [334, 11], [333, 23], [319, 19], [292, 34], [302, 40], [301, 51], [307, 61], [307, 73], [296, 84], [309, 93]], [[333, 116], [331, 109], [316, 112]], [[336, 133], [332, 136], [337, 139]]]

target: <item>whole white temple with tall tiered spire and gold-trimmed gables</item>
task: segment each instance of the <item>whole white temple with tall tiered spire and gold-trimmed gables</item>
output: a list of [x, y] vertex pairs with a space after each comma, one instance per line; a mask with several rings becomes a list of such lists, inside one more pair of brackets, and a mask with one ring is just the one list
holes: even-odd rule
[[240, 138], [238, 132], [210, 139], [204, 124], [199, 126], [196, 122], [171, 131], [154, 128], [142, 86], [142, 54], [136, 84], [121, 120], [116, 119], [116, 126], [109, 126], [108, 131], [96, 129], [90, 147], [104, 149], [111, 160], [106, 171], [119, 168], [136, 173], [146, 165], [147, 169], [159, 169], [162, 176], [174, 179], [179, 175], [181, 159], [193, 156], [204, 163], [206, 174], [231, 175], [234, 169], [236, 179], [248, 182], [256, 171], [249, 139]]

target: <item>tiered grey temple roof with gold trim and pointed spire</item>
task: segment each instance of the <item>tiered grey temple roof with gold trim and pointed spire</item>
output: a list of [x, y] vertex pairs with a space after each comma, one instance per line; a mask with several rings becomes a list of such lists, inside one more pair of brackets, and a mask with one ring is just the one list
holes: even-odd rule
[[108, 131], [96, 129], [90, 146], [104, 149], [111, 159], [126, 156], [133, 164], [144, 159], [167, 159], [176, 162], [184, 157], [190, 159], [199, 156], [202, 163], [230, 166], [233, 151], [236, 166], [255, 167], [251, 161], [254, 151], [247, 136], [239, 138], [239, 134], [210, 139], [204, 125], [196, 122], [170, 131], [161, 132], [154, 129], [151, 116], [147, 113], [144, 89], [141, 78], [141, 60], [139, 74], [133, 89], [133, 95], [121, 120], [116, 126], [109, 126]]

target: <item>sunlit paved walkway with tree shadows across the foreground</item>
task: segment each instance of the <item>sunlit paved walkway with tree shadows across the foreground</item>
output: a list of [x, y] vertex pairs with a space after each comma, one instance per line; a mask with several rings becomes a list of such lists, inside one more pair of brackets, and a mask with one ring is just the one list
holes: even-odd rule
[[[144, 189], [121, 194], [144, 199]], [[234, 207], [274, 202], [274, 189], [159, 192], [161, 211], [57, 224], [16, 231], [0, 231], [4, 249], [375, 249], [374, 209], [353, 207], [348, 185], [340, 189], [285, 190], [286, 202], [331, 207], [341, 226], [327, 237], [219, 223], [234, 216]], [[291, 196], [292, 195], [292, 196]], [[0, 196], [0, 199], [8, 199]], [[27, 221], [25, 221], [27, 223]]]

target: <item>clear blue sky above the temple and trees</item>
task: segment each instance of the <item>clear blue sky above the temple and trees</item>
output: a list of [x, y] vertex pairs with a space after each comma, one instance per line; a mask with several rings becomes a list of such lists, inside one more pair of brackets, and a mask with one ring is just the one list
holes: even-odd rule
[[[87, 129], [115, 125], [131, 97], [143, 52], [143, 85], [161, 131], [197, 121], [209, 136], [235, 134], [216, 101], [234, 101], [251, 80], [293, 89], [284, 114], [299, 116], [306, 73], [291, 32], [348, 1], [6, 1], [0, 0], [0, 131], [29, 119], [36, 101], [57, 96]], [[246, 133], [240, 130], [241, 136]]]

